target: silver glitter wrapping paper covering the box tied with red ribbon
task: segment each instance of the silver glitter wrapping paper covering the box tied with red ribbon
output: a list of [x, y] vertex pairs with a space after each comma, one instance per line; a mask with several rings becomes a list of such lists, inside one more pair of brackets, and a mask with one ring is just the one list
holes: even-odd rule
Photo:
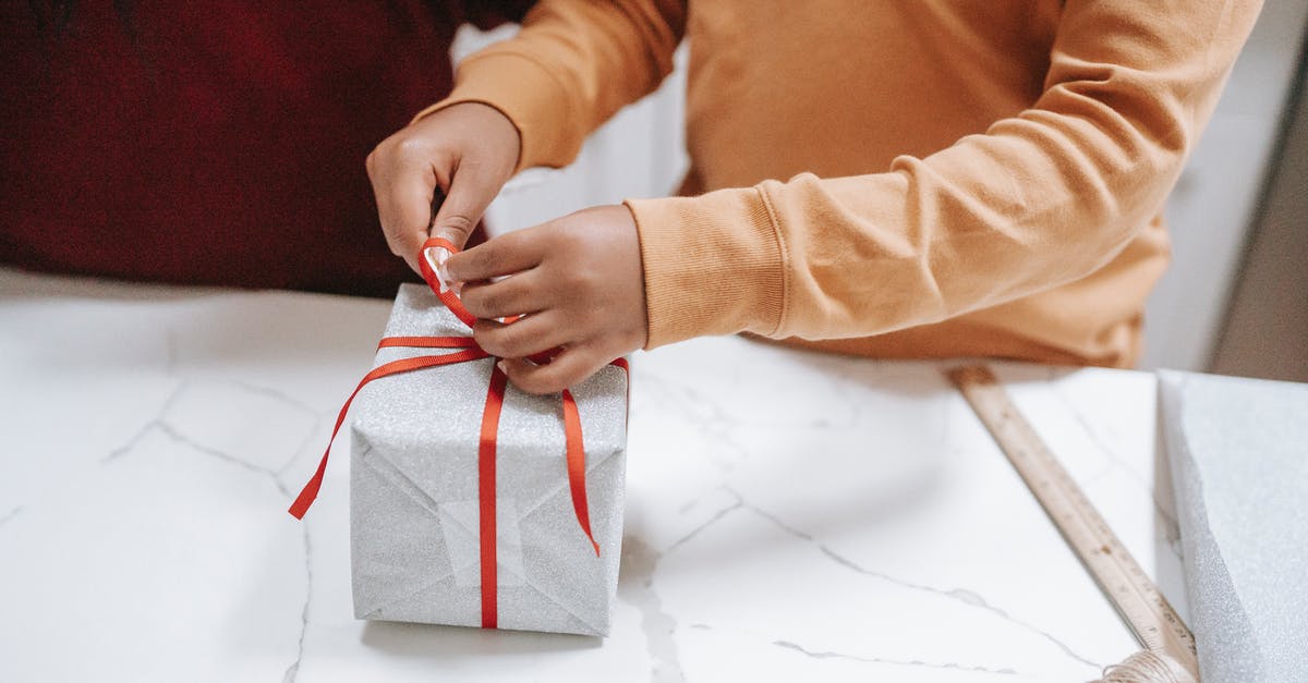
[[[426, 288], [403, 285], [386, 335], [466, 335]], [[449, 349], [379, 349], [375, 365]], [[378, 379], [352, 408], [354, 615], [481, 624], [477, 442], [492, 360]], [[511, 385], [500, 416], [498, 627], [603, 636], [617, 586], [627, 468], [627, 373], [572, 389], [586, 446], [595, 556], [568, 488], [559, 395]]]

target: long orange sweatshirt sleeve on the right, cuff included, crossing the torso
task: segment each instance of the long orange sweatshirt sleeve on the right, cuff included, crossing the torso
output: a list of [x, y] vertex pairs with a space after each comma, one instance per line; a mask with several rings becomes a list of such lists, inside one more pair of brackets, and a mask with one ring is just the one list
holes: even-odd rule
[[1069, 0], [1042, 94], [984, 135], [887, 173], [629, 200], [647, 347], [870, 336], [1087, 276], [1162, 211], [1260, 4]]

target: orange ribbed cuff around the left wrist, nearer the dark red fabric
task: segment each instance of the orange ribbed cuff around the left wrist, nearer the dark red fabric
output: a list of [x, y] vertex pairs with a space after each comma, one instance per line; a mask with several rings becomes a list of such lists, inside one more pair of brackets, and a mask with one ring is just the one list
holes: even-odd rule
[[450, 97], [419, 111], [413, 122], [442, 109], [477, 102], [497, 109], [518, 128], [522, 141], [518, 166], [562, 167], [581, 150], [581, 139], [569, 122], [565, 90], [555, 77], [527, 55], [493, 52], [472, 55], [459, 63]]

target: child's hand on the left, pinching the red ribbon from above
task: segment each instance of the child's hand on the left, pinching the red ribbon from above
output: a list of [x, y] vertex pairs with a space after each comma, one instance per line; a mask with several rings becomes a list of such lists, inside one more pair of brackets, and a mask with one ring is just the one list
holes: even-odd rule
[[[391, 251], [415, 271], [428, 237], [462, 247], [513, 175], [522, 140], [497, 109], [466, 102], [387, 137], [368, 156], [368, 177]], [[437, 188], [445, 195], [432, 216]]]

